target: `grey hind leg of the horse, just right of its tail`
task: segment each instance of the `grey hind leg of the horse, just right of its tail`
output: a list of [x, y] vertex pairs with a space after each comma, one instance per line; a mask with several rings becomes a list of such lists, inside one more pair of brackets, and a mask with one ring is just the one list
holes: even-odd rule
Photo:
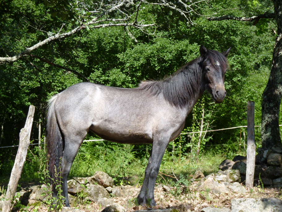
[[65, 147], [63, 151], [63, 157], [62, 157], [62, 170], [61, 170], [61, 176], [62, 176], [62, 190], [63, 190], [63, 196], [65, 197], [65, 206], [70, 207], [70, 203], [68, 200], [68, 193], [67, 193], [67, 177], [70, 174], [70, 170], [72, 167], [72, 163], [76, 157], [77, 151], [79, 147], [81, 146], [85, 136], [87, 134], [87, 131], [84, 133], [80, 133], [80, 135], [68, 135], [65, 136]]

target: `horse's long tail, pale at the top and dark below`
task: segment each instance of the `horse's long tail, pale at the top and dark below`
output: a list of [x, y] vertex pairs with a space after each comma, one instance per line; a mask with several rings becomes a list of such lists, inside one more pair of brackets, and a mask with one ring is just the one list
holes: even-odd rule
[[[55, 102], [59, 94], [53, 96], [48, 103], [47, 114], [47, 149], [49, 160], [50, 183], [53, 185], [53, 196], [57, 196], [58, 192], [55, 187], [60, 181], [60, 160], [63, 156], [63, 138], [55, 115]], [[52, 180], [54, 179], [54, 181]]]

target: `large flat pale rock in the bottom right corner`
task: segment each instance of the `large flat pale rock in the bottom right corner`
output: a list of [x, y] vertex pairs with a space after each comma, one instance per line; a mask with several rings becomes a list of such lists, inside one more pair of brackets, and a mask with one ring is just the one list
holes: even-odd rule
[[231, 212], [280, 212], [282, 201], [276, 198], [241, 198], [231, 200]]

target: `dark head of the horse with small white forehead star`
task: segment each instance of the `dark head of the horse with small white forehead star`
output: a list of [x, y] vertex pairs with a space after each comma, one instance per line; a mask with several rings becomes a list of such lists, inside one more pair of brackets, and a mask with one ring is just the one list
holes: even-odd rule
[[221, 103], [226, 96], [224, 87], [224, 76], [228, 69], [227, 56], [229, 48], [225, 52], [206, 49], [203, 45], [200, 47], [202, 60], [202, 76], [206, 90], [208, 90], [216, 103]]

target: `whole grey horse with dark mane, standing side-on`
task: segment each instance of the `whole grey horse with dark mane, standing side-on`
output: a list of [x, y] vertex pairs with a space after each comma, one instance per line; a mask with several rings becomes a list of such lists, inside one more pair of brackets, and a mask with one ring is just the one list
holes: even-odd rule
[[[154, 185], [169, 142], [184, 128], [185, 120], [205, 90], [220, 103], [226, 96], [225, 52], [200, 46], [200, 57], [169, 77], [143, 81], [137, 88], [116, 88], [90, 82], [70, 86], [48, 104], [47, 147], [50, 178], [61, 167], [62, 195], [68, 200], [67, 178], [88, 131], [112, 142], [152, 144], [145, 178], [138, 194], [140, 205], [155, 206]], [[60, 181], [60, 180], [59, 180]], [[53, 197], [57, 198], [55, 183]]]

